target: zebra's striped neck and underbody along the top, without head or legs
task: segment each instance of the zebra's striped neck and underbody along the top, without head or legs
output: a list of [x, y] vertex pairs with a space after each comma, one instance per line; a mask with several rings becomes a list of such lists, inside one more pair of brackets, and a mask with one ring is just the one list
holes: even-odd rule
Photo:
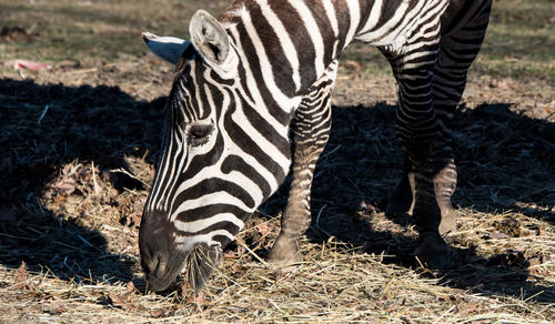
[[[468, 2], [458, 0], [455, 2]], [[220, 18], [241, 64], [268, 88], [284, 111], [353, 41], [398, 52], [422, 12], [448, 0], [243, 0]], [[243, 77], [243, 75], [242, 75]]]

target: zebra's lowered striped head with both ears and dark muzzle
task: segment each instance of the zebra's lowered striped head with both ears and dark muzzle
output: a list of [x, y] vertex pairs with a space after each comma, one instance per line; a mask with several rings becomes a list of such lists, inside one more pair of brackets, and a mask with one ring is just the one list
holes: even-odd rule
[[200, 290], [291, 163], [287, 125], [255, 113], [261, 109], [246, 85], [253, 80], [233, 37], [202, 10], [190, 33], [191, 41], [143, 33], [155, 54], [176, 64], [139, 235], [152, 291], [165, 290], [181, 273]]

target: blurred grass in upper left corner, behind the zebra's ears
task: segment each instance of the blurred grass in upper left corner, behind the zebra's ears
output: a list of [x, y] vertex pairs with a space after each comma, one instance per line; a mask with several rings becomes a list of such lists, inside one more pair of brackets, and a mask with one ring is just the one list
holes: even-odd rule
[[[0, 29], [21, 28], [28, 38], [0, 38], [0, 60], [68, 59], [113, 61], [118, 54], [143, 54], [144, 30], [186, 36], [188, 20], [201, 1], [0, 1]], [[186, 19], [185, 19], [186, 18]], [[6, 43], [2, 43], [2, 38]], [[8, 44], [9, 43], [9, 44]]]

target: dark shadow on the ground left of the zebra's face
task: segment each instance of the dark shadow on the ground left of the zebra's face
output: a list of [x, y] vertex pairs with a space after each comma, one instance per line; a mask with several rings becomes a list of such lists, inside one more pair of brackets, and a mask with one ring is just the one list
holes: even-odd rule
[[[124, 155], [150, 159], [158, 151], [163, 104], [138, 102], [119, 88], [0, 80], [0, 263], [17, 267], [24, 261], [78, 282], [130, 280], [137, 260], [108, 251], [93, 229], [110, 222], [87, 206], [118, 204], [114, 196], [124, 188], [142, 188], [110, 171], [127, 166]], [[95, 199], [98, 189], [80, 181], [93, 170], [94, 181], [111, 182], [119, 192]], [[71, 211], [63, 206], [69, 195]], [[44, 196], [61, 207], [46, 207], [39, 200]]]

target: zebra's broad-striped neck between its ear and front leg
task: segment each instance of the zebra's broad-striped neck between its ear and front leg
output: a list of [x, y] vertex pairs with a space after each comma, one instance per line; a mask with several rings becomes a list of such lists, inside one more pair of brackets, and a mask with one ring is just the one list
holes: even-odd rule
[[301, 97], [324, 74], [354, 39], [361, 13], [372, 3], [246, 0], [235, 2], [220, 20], [240, 55], [241, 77], [245, 82], [251, 77], [262, 92], [291, 111], [287, 99]]

